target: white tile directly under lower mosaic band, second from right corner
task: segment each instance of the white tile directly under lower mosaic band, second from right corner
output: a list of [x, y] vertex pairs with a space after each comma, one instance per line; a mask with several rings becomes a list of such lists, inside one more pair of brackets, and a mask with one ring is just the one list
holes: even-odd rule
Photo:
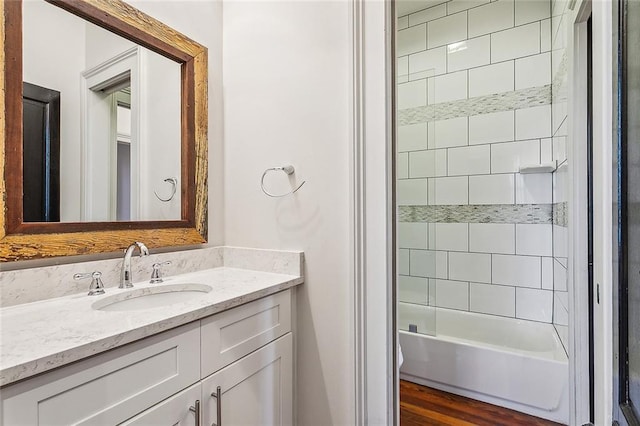
[[470, 223], [469, 251], [514, 254], [515, 225], [511, 223]]

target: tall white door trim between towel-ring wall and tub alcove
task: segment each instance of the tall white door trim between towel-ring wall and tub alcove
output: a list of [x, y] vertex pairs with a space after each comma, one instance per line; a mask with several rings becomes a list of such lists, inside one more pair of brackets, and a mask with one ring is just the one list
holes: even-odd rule
[[394, 346], [391, 250], [392, 3], [352, 0], [351, 226], [356, 425], [391, 425]]

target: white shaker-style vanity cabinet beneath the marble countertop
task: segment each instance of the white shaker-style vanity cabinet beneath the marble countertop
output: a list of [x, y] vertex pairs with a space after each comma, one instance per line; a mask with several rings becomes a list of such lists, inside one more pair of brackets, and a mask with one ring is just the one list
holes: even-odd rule
[[[292, 424], [291, 290], [0, 389], [2, 425]], [[211, 394], [221, 388], [221, 398]], [[190, 410], [193, 406], [194, 410]]]

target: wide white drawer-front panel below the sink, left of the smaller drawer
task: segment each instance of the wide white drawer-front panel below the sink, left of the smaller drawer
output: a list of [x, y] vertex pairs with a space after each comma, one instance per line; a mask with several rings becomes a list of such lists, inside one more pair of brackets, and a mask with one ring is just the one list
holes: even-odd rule
[[2, 424], [114, 425], [199, 380], [194, 322], [2, 389]]

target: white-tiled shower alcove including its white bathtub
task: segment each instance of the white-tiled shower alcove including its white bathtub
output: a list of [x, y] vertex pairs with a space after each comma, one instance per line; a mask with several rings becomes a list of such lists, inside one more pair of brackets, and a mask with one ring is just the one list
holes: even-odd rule
[[397, 4], [402, 379], [568, 423], [563, 0]]

